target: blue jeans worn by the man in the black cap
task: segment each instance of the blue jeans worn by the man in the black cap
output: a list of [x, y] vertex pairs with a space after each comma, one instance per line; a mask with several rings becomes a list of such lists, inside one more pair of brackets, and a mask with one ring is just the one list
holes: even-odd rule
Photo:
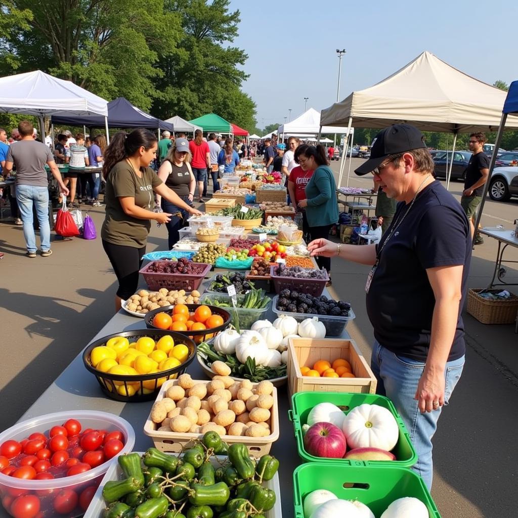
[[[378, 380], [376, 393], [388, 397], [394, 403], [419, 457], [412, 469], [423, 478], [430, 490], [434, 475], [431, 438], [437, 429], [442, 409], [439, 407], [424, 414], [419, 411], [418, 401], [414, 396], [424, 366], [422, 362], [396, 355], [377, 341], [374, 342], [370, 367]], [[463, 368], [464, 356], [446, 364], [444, 405], [448, 405]]]

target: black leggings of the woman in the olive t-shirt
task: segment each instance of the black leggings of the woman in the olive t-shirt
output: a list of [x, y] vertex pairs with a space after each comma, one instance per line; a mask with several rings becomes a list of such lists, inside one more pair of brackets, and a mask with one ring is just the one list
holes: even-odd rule
[[103, 248], [119, 281], [117, 296], [126, 300], [135, 294], [138, 286], [138, 270], [146, 247], [126, 247], [103, 239]]

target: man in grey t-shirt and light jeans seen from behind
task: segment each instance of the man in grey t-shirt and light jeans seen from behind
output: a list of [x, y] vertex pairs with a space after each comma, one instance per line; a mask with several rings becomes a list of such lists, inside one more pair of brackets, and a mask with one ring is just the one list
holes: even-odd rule
[[33, 207], [36, 208], [39, 223], [41, 256], [48, 257], [52, 254], [52, 250], [50, 249], [49, 181], [45, 164], [50, 167], [61, 193], [67, 196], [68, 189], [61, 179], [61, 173], [57, 169], [50, 148], [34, 140], [32, 123], [20, 121], [18, 131], [21, 140], [9, 146], [4, 174], [9, 174], [13, 165], [16, 165], [16, 200], [22, 216], [27, 257], [36, 257], [37, 251]]

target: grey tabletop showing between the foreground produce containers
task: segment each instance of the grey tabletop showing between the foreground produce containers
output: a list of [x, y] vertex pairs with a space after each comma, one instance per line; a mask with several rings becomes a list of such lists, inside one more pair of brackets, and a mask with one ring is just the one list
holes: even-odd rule
[[[327, 290], [324, 291], [324, 295], [329, 296]], [[270, 309], [266, 318], [272, 321], [277, 316]], [[113, 333], [145, 327], [143, 319], [135, 318], [124, 310], [120, 310], [113, 315], [91, 341]], [[350, 339], [350, 336], [344, 330], [340, 338]], [[193, 379], [206, 379], [196, 358], [187, 371]], [[293, 471], [302, 461], [297, 454], [293, 424], [287, 417], [287, 411], [290, 408], [287, 385], [279, 387], [278, 396], [280, 437], [274, 442], [271, 454], [275, 455], [280, 461], [279, 478], [282, 481], [282, 492], [278, 497], [281, 498], [282, 515], [283, 518], [291, 518], [293, 516]], [[130, 422], [135, 429], [134, 450], [145, 451], [153, 445], [151, 438], [143, 433], [143, 427], [152, 404], [153, 401], [123, 403], [105, 397], [95, 377], [84, 368], [81, 351], [54, 383], [36, 400], [34, 405], [25, 412], [20, 421], [63, 410], [102, 410], [120, 415]]]

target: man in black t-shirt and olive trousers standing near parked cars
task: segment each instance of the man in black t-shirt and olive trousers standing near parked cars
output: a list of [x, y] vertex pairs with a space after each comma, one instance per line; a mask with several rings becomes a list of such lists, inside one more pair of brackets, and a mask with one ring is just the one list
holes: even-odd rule
[[[469, 150], [473, 153], [469, 159], [466, 168], [466, 179], [464, 180], [464, 191], [461, 197], [461, 205], [469, 220], [471, 229], [471, 239], [475, 232], [474, 219], [477, 207], [479, 206], [482, 195], [484, 194], [484, 185], [489, 176], [489, 158], [482, 151], [484, 149], [486, 138], [483, 133], [472, 133], [469, 136]], [[481, 244], [484, 240], [477, 233], [474, 244]]]

